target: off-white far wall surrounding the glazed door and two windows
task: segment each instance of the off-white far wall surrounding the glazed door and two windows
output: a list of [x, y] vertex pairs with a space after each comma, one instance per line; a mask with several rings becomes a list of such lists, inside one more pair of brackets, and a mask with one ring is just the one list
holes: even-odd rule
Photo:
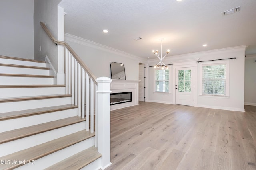
[[[214, 60], [214, 59], [230, 59], [230, 86], [229, 86], [229, 97], [218, 97], [218, 96], [202, 96], [199, 95], [200, 88], [200, 68], [198, 66], [196, 70], [196, 80], [195, 80], [195, 92], [194, 95], [195, 103], [194, 106], [197, 107], [207, 107], [207, 108], [216, 108], [216, 109], [226, 109], [234, 111], [244, 111], [244, 53], [246, 46], [231, 47], [226, 49], [218, 49], [212, 51], [203, 51], [199, 53], [191, 53], [185, 55], [177, 55], [172, 57], [166, 57], [164, 59], [165, 64], [172, 64], [173, 62], [188, 61], [192, 59], [198, 59], [198, 61], [204, 60]], [[155, 60], [149, 61], [149, 66], [154, 66], [156, 64]], [[180, 65], [180, 68], [183, 66]], [[184, 66], [186, 67], [186, 66]], [[148, 71], [148, 101], [152, 102], [162, 102], [175, 104], [175, 91], [172, 80], [175, 76], [172, 66], [170, 68], [170, 93], [161, 94], [153, 93], [154, 88], [154, 68], [149, 68]]]

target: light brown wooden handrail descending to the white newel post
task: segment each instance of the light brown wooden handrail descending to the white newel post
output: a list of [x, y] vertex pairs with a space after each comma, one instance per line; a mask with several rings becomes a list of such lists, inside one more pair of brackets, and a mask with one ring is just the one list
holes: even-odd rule
[[76, 54], [76, 52], [68, 45], [68, 43], [64, 42], [64, 41], [58, 41], [56, 40], [53, 36], [52, 33], [49, 31], [49, 29], [46, 27], [45, 23], [40, 22], [42, 28], [44, 29], [44, 31], [46, 32], [46, 34], [48, 35], [48, 37], [50, 37], [50, 39], [52, 40], [52, 42], [54, 42], [55, 44], [59, 44], [59, 45], [63, 45], [65, 46], [68, 51], [70, 51], [70, 53], [73, 55], [73, 57], [76, 59], [76, 61], [82, 66], [82, 68], [84, 68], [84, 70], [87, 72], [87, 74], [90, 76], [90, 78], [92, 78], [93, 82], [95, 84], [97, 84], [96, 82], [96, 76], [94, 76], [94, 74], [92, 73], [92, 71], [88, 68], [88, 66], [86, 64], [84, 64], [84, 62], [82, 61], [82, 59]]

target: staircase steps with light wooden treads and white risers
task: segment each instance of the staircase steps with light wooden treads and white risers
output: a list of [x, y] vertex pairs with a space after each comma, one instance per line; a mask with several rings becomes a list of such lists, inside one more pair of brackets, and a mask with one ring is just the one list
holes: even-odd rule
[[0, 56], [0, 170], [96, 170], [95, 132], [46, 63]]

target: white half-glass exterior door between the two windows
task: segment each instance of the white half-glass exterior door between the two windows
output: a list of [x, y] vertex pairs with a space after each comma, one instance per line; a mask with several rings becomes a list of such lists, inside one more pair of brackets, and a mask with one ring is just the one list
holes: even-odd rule
[[194, 106], [194, 68], [176, 68], [175, 103]]

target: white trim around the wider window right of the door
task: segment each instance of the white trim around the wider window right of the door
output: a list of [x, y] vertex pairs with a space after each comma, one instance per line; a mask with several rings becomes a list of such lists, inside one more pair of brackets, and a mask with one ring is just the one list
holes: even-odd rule
[[[200, 72], [200, 77], [199, 77], [199, 95], [200, 96], [214, 96], [214, 97], [229, 97], [229, 66], [230, 66], [230, 61], [210, 61], [210, 62], [204, 62], [204, 63], [198, 63], [199, 64], [199, 72]], [[214, 95], [214, 94], [203, 94], [203, 89], [202, 89], [202, 79], [203, 79], [203, 66], [214, 66], [214, 65], [221, 65], [225, 64], [226, 65], [226, 95]]]

